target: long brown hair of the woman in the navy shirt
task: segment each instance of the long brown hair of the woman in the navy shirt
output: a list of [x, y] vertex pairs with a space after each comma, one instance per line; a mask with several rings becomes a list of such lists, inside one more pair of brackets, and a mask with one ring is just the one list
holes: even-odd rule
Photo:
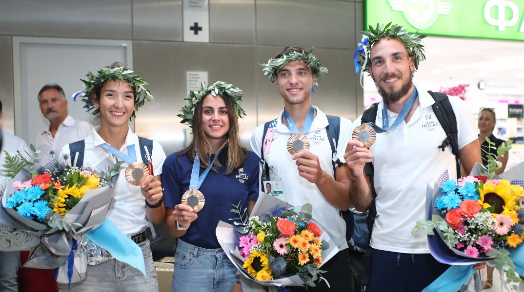
[[[222, 150], [220, 152], [220, 158], [226, 165], [225, 174], [229, 174], [234, 169], [239, 168], [244, 164], [244, 161], [246, 161], [247, 158], [247, 149], [240, 144], [240, 130], [233, 102], [226, 94], [217, 94], [216, 96], [224, 100], [227, 108], [227, 116], [230, 122], [230, 129], [229, 132], [226, 133], [227, 136], [224, 144], [221, 145]], [[208, 167], [209, 163], [211, 163], [209, 155], [211, 152], [211, 145], [202, 129], [202, 101], [205, 97], [196, 104], [195, 112], [193, 114], [193, 141], [191, 141], [189, 146], [180, 153], [180, 156], [185, 154], [191, 161], [194, 160], [195, 154], [198, 153], [201, 167]], [[216, 159], [212, 169], [216, 171], [216, 167], [221, 166], [219, 159]]]

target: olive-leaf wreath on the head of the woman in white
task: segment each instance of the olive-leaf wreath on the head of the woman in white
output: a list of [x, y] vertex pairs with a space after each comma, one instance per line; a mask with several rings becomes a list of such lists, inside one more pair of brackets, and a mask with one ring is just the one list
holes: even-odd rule
[[144, 79], [139, 75], [132, 73], [132, 70], [126, 70], [124, 66], [115, 68], [102, 68], [98, 72], [99, 75], [95, 76], [90, 71], [88, 75], [85, 75], [85, 79], [80, 79], [84, 83], [84, 91], [82, 91], [82, 102], [85, 102], [85, 106], [83, 108], [87, 109], [86, 112], [91, 111], [91, 114], [93, 115], [100, 113], [100, 110], [94, 107], [93, 101], [91, 100], [91, 95], [94, 93], [95, 87], [102, 86], [106, 80], [123, 80], [126, 81], [129, 86], [133, 87], [135, 91], [136, 106], [133, 114], [129, 117], [129, 120], [135, 118], [135, 111], [138, 111], [140, 107], [144, 106], [146, 101], [151, 101], [153, 97], [151, 96], [149, 89], [144, 87], [144, 85], [148, 84], [146, 81], [149, 79]]

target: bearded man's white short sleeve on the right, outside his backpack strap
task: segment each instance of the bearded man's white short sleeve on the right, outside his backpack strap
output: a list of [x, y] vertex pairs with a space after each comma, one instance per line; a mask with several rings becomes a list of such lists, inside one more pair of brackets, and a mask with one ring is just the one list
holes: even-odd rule
[[457, 120], [458, 144], [462, 149], [467, 144], [478, 139], [473, 112], [468, 108], [466, 102], [459, 97], [450, 96], [451, 107]]

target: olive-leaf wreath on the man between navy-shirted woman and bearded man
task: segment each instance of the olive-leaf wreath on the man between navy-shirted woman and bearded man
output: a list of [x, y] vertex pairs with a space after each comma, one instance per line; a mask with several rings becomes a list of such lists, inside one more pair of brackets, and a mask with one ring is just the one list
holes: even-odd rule
[[308, 67], [311, 67], [313, 73], [316, 74], [316, 77], [320, 78], [329, 71], [328, 68], [322, 67], [320, 64], [320, 59], [317, 59], [315, 55], [313, 55], [313, 48], [314, 47], [312, 46], [308, 53], [305, 53], [304, 51], [293, 51], [289, 53], [289, 55], [283, 55], [278, 59], [269, 59], [267, 64], [258, 65], [264, 67], [264, 76], [267, 76], [267, 78], [271, 79], [272, 83], [275, 83], [275, 76], [284, 66], [286, 66], [287, 63], [297, 60], [308, 63]]

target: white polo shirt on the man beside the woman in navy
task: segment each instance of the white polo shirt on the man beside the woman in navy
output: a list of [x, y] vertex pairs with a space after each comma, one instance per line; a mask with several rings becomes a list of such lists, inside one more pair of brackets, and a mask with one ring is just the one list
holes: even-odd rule
[[[318, 108], [313, 108], [316, 110], [316, 116], [313, 119], [308, 133], [305, 134], [310, 140], [309, 150], [319, 157], [320, 167], [331, 177], [334, 177], [331, 162], [333, 154], [331, 153], [331, 146], [328, 141], [328, 133], [325, 129], [329, 124], [328, 118]], [[264, 155], [264, 158], [269, 167], [273, 167], [279, 179], [282, 179], [286, 201], [294, 206], [306, 203], [313, 205], [313, 214], [311, 214], [313, 218], [319, 221], [320, 224], [340, 241], [339, 249], [346, 249], [346, 223], [340, 216], [340, 209], [330, 205], [314, 183], [299, 176], [296, 161], [291, 159], [292, 155], [289, 154], [286, 147], [286, 143], [292, 133], [286, 125], [282, 124], [282, 114], [283, 111], [280, 112], [277, 119], [277, 131], [273, 136], [274, 141], [271, 143], [269, 155]], [[342, 162], [345, 162], [344, 151], [346, 143], [351, 139], [350, 128], [351, 121], [340, 118], [339, 145], [336, 145], [336, 153]], [[258, 156], [260, 156], [262, 139], [265, 134], [263, 132], [264, 125], [260, 125], [251, 136], [251, 149]], [[260, 166], [260, 173], [262, 173], [262, 171], [263, 169]], [[275, 176], [271, 171], [268, 180], [275, 180]], [[260, 181], [260, 183], [262, 182]], [[260, 187], [258, 190], [260, 191]]]

